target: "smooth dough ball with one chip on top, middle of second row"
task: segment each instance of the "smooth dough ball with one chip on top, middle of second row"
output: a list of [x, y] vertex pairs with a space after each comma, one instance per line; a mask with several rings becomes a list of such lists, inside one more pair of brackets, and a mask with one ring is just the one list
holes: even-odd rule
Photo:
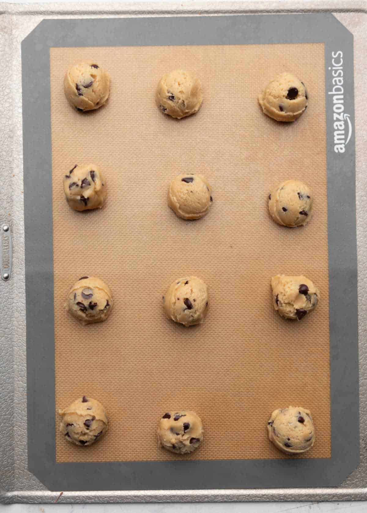
[[209, 212], [212, 188], [201, 174], [179, 174], [168, 190], [168, 205], [182, 219], [199, 219]]

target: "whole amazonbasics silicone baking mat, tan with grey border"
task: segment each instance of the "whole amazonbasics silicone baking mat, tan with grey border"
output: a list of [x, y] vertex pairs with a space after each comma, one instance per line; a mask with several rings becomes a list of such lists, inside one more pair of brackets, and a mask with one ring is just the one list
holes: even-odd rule
[[[356, 313], [349, 288], [354, 139], [348, 164], [337, 161], [325, 123], [330, 102], [333, 108], [325, 73], [331, 48], [337, 42], [350, 56], [350, 40], [340, 39], [332, 16], [250, 18], [50, 21], [33, 34], [36, 51], [42, 31], [48, 34], [47, 61], [42, 57], [35, 76], [51, 96], [23, 84], [30, 96], [24, 108], [47, 107], [25, 118], [25, 133], [33, 129], [39, 143], [37, 153], [25, 143], [25, 165], [32, 164], [26, 211], [37, 218], [38, 234], [27, 224], [27, 369], [36, 376], [28, 380], [29, 465], [49, 487], [327, 485], [340, 482], [336, 460], [343, 458], [343, 472], [355, 462], [356, 360], [343, 345], [343, 327]], [[279, 32], [282, 26], [292, 30]], [[25, 73], [31, 52], [25, 45], [23, 52]], [[68, 66], [89, 59], [110, 71], [111, 95], [105, 107], [80, 114], [67, 104], [62, 81]], [[205, 98], [198, 114], [181, 121], [154, 104], [159, 77], [177, 66], [197, 71]], [[284, 70], [307, 85], [310, 106], [283, 125], [262, 114], [257, 94]], [[347, 113], [352, 90], [345, 86]], [[39, 130], [47, 123], [52, 141]], [[50, 143], [46, 154], [52, 142], [48, 171], [36, 165], [43, 141]], [[73, 212], [62, 176], [88, 162], [105, 172], [108, 201], [99, 211]], [[169, 183], [180, 172], [201, 172], [213, 187], [212, 209], [200, 221], [182, 221], [167, 206]], [[293, 177], [314, 189], [315, 211], [307, 227], [291, 230], [271, 221], [267, 196]], [[321, 290], [317, 309], [300, 323], [273, 310], [270, 278], [281, 272], [304, 273]], [[92, 273], [110, 285], [114, 307], [107, 322], [81, 326], [64, 303], [80, 275]], [[167, 320], [161, 306], [169, 284], [185, 274], [199, 275], [210, 293], [205, 323], [189, 329]], [[355, 347], [353, 327], [348, 337]], [[42, 372], [34, 374], [39, 361]], [[54, 379], [54, 396], [40, 401], [37, 390]], [[103, 402], [110, 419], [106, 437], [87, 451], [65, 443], [55, 414], [83, 393]], [[289, 404], [314, 415], [316, 443], [303, 458], [283, 456], [267, 440], [271, 411]], [[180, 407], [197, 411], [205, 425], [205, 441], [184, 458], [158, 449], [155, 438], [159, 417]], [[341, 412], [357, 435], [348, 451]], [[43, 440], [36, 414], [46, 422]]]

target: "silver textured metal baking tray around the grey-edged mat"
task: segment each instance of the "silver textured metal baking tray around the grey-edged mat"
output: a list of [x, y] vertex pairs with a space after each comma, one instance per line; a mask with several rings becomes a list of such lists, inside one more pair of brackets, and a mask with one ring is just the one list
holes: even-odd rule
[[[0, 349], [0, 418], [2, 419], [2, 435], [0, 444], [0, 475], [3, 503], [28, 502], [204, 502], [204, 501], [264, 501], [264, 500], [362, 500], [367, 499], [367, 478], [365, 437], [367, 405], [364, 399], [367, 389], [365, 362], [367, 312], [365, 305], [367, 289], [367, 251], [364, 215], [367, 213], [366, 161], [366, 126], [362, 105], [362, 94], [365, 90], [366, 68], [365, 52], [367, 50], [366, 10], [365, 2], [222, 2], [214, 6], [209, 3], [181, 4], [166, 3], [124, 3], [124, 4], [3, 4], [0, 10], [0, 32], [2, 34], [1, 54], [3, 62], [4, 93], [0, 101], [3, 120], [3, 133], [0, 148], [0, 174], [3, 178], [0, 190], [0, 223], [2, 227], [2, 249], [5, 259], [0, 282], [1, 300], [1, 332]], [[360, 457], [359, 465], [344, 479], [342, 484], [333, 488], [236, 488], [229, 489], [185, 489], [185, 490], [124, 490], [124, 491], [49, 491], [28, 470], [28, 438], [27, 438], [27, 385], [30, 391], [34, 383], [27, 384], [26, 356], [26, 301], [25, 301], [25, 230], [23, 202], [23, 144], [27, 144], [27, 134], [23, 138], [22, 98], [31, 97], [29, 91], [22, 96], [22, 55], [21, 44], [24, 38], [38, 26], [43, 19], [72, 18], [123, 18], [152, 16], [218, 16], [218, 15], [252, 15], [274, 13], [331, 13], [354, 38], [354, 87], [355, 87], [355, 148], [356, 148], [356, 215], [357, 215], [357, 264], [358, 264], [358, 336], [359, 336], [359, 416], [360, 416]], [[336, 49], [335, 51], [337, 51]], [[349, 68], [352, 74], [352, 65]], [[32, 73], [32, 67], [27, 67]], [[353, 76], [350, 77], [353, 83]], [[32, 83], [32, 80], [29, 81]], [[27, 88], [27, 80], [23, 71], [23, 88]], [[328, 130], [332, 120], [327, 120]], [[29, 125], [29, 124], [28, 124]], [[27, 125], [27, 129], [28, 129]], [[354, 142], [354, 135], [353, 142]], [[26, 153], [25, 153], [26, 154]], [[336, 161], [335, 161], [336, 162]], [[350, 163], [349, 163], [350, 164]], [[353, 228], [353, 223], [352, 223]], [[29, 226], [27, 227], [29, 229]], [[32, 228], [32, 227], [31, 227]], [[34, 226], [34, 241], [42, 240]], [[9, 247], [11, 233], [12, 248]], [[8, 263], [11, 261], [12, 269]], [[7, 267], [8, 266], [8, 267]], [[11, 272], [10, 272], [11, 271]], [[6, 273], [10, 274], [7, 278]], [[347, 342], [346, 342], [347, 343]], [[42, 358], [42, 355], [40, 356]], [[33, 364], [34, 365], [34, 364]], [[41, 366], [39, 366], [41, 368]], [[28, 373], [32, 379], [35, 372]], [[356, 376], [355, 376], [356, 378]], [[355, 380], [356, 381], [356, 380]], [[351, 380], [351, 383], [353, 380]], [[352, 390], [353, 389], [352, 387]], [[29, 394], [28, 401], [32, 398]], [[28, 403], [29, 406], [29, 403]], [[32, 421], [36, 419], [32, 418]], [[28, 419], [29, 422], [29, 419]], [[348, 426], [348, 419], [345, 419]], [[31, 426], [32, 428], [32, 426]], [[28, 429], [30, 426], [28, 425]], [[340, 444], [349, 443], [348, 428], [339, 430]], [[345, 436], [343, 436], [345, 435]], [[355, 441], [350, 445], [356, 446]], [[31, 449], [32, 450], [32, 449]], [[335, 459], [334, 459], [334, 456]], [[344, 460], [333, 455], [333, 464], [343, 467]], [[41, 462], [42, 465], [42, 462]], [[57, 465], [56, 465], [57, 466]], [[356, 465], [354, 465], [355, 467]], [[341, 472], [343, 473], [343, 472]], [[344, 475], [346, 475], [346, 472]], [[75, 488], [74, 488], [75, 489]], [[61, 492], [63, 492], [62, 495]]]

